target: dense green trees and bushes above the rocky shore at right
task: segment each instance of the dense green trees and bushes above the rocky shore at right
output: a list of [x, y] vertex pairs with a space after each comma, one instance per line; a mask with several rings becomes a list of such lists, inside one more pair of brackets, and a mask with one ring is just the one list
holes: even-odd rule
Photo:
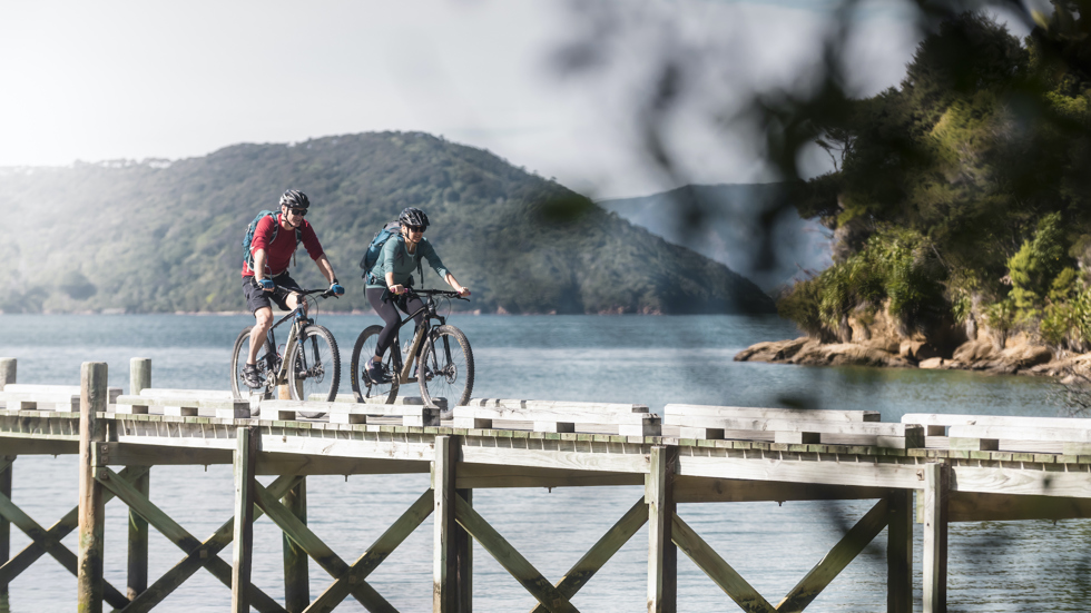
[[900, 87], [812, 118], [842, 154], [799, 206], [839, 241], [841, 264], [807, 289], [824, 326], [881, 285], [907, 327], [980, 309], [1002, 339], [1041, 325], [1084, 343], [1073, 258], [1091, 264], [1091, 13], [1055, 7], [1023, 41], [983, 13], [946, 19]]

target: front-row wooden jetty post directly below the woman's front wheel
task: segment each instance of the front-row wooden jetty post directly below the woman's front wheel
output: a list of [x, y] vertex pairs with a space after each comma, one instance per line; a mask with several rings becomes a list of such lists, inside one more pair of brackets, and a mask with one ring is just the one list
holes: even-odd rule
[[459, 606], [458, 553], [454, 533], [455, 462], [459, 445], [451, 436], [435, 437], [435, 464], [432, 467], [433, 532], [432, 550], [432, 611], [455, 613]]

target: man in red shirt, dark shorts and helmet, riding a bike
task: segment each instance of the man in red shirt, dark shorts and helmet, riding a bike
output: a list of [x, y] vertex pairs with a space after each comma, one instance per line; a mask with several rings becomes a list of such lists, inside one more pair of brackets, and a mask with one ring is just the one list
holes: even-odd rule
[[263, 385], [256, 362], [257, 350], [273, 325], [271, 303], [276, 303], [281, 310], [292, 310], [299, 304], [298, 291], [303, 288], [288, 276], [288, 264], [297, 247], [296, 230], [311, 259], [330, 281], [330, 293], [337, 296], [345, 293], [345, 288], [341, 287], [333, 274], [333, 266], [322, 251], [314, 228], [304, 218], [309, 207], [311, 200], [306, 194], [297, 189], [285, 191], [281, 196], [281, 214], [264, 217], [254, 229], [254, 238], [250, 240], [253, 268], [248, 261], [243, 263], [243, 296], [246, 298], [246, 308], [250, 309], [256, 322], [250, 330], [250, 352], [246, 366], [243, 367], [243, 379], [252, 388]]

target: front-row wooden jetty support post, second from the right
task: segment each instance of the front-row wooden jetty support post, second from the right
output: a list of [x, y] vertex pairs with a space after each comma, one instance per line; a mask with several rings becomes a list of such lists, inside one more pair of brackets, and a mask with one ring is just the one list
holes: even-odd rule
[[677, 610], [678, 547], [671, 540], [675, 516], [676, 446], [651, 447], [651, 471], [645, 482], [648, 503], [648, 613]]

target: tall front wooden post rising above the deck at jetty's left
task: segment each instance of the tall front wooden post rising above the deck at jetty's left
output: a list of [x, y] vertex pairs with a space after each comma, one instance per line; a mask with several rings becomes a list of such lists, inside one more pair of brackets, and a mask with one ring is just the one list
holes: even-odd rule
[[76, 610], [102, 611], [102, 548], [106, 501], [102, 486], [95, 481], [91, 447], [106, 439], [105, 423], [98, 413], [109, 402], [107, 366], [85, 362], [80, 368], [79, 394], [79, 553], [77, 554]]

